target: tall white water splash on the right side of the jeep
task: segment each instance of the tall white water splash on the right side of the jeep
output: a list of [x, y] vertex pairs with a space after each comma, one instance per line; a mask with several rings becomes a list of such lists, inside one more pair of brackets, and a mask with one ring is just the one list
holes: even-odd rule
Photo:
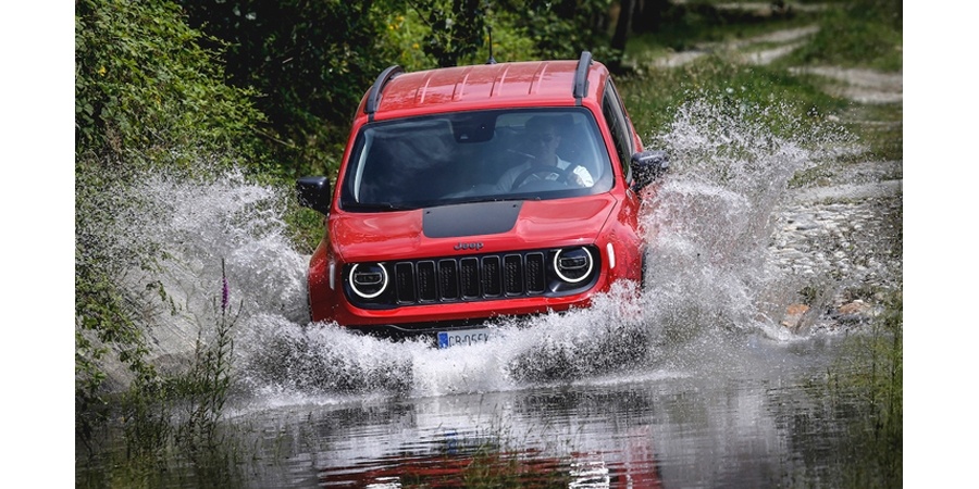
[[657, 229], [647, 256], [645, 309], [666, 340], [724, 329], [784, 338], [778, 314], [791, 277], [773, 266], [773, 218], [789, 181], [851, 142], [839, 128], [765, 121], [791, 108], [704, 96], [681, 106], [669, 131], [648, 146], [671, 155], [672, 174], [644, 214]]

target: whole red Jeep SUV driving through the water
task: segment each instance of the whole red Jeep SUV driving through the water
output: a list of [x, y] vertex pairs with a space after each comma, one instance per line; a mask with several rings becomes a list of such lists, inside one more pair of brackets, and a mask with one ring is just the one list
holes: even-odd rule
[[357, 110], [335, 189], [297, 183], [326, 216], [311, 318], [448, 347], [486, 338], [495, 316], [587, 306], [642, 280], [640, 193], [667, 167], [587, 51], [391, 66]]

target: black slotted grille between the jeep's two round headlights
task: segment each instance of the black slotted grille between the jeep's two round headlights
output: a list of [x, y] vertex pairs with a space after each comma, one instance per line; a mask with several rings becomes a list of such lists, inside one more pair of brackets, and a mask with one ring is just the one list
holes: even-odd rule
[[397, 262], [397, 304], [424, 304], [544, 293], [545, 253], [490, 254]]

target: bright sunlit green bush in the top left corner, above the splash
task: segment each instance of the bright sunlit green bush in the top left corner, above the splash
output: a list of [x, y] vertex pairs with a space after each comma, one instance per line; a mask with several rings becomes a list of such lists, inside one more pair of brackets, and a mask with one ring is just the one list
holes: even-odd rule
[[223, 83], [201, 40], [169, 1], [77, 2], [76, 164], [256, 158], [262, 115], [248, 101], [252, 92]]

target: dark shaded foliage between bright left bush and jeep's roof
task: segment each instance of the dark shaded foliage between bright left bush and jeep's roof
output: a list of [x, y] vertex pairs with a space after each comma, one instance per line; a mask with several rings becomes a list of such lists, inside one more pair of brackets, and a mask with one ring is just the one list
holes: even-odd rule
[[[396, 2], [395, 2], [396, 3]], [[284, 178], [337, 167], [350, 117], [364, 90], [391, 60], [388, 2], [326, 0], [181, 1], [191, 26], [226, 43], [227, 83], [253, 88], [270, 122], [264, 134]]]

